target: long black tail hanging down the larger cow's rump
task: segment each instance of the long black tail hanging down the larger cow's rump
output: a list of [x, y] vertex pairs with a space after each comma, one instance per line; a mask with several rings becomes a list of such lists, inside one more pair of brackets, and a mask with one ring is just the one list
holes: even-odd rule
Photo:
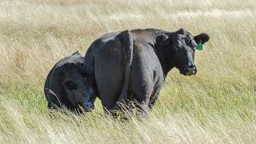
[[120, 110], [122, 104], [125, 104], [127, 102], [130, 80], [130, 66], [133, 61], [134, 39], [132, 37], [132, 34], [130, 33], [130, 30], [125, 30], [122, 33], [118, 34], [118, 38], [122, 42], [122, 55], [124, 59], [125, 78], [118, 101], [115, 103], [114, 107], [112, 107], [110, 111]]

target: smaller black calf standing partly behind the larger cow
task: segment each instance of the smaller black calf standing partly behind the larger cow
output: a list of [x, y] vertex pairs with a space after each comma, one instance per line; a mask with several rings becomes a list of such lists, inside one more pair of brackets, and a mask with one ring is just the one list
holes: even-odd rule
[[44, 93], [49, 109], [66, 106], [82, 112], [94, 109], [94, 88], [83, 70], [84, 57], [78, 51], [62, 58], [47, 75]]

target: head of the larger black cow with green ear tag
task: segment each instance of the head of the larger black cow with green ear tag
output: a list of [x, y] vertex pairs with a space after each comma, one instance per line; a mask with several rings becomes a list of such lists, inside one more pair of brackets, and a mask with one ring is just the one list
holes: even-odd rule
[[202, 33], [193, 36], [188, 31], [180, 29], [174, 33], [158, 35], [157, 43], [165, 49], [170, 65], [178, 68], [181, 74], [193, 75], [197, 73], [194, 64], [196, 46], [200, 41], [204, 44], [209, 39], [208, 34]]

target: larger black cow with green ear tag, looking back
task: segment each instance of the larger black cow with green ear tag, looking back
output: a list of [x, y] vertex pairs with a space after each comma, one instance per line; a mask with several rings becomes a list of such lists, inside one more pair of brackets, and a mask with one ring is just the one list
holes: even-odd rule
[[184, 29], [109, 33], [91, 44], [84, 68], [106, 110], [120, 110], [117, 103], [127, 100], [151, 108], [170, 70], [176, 67], [184, 75], [197, 73], [195, 48], [209, 39], [208, 34], [193, 36]]

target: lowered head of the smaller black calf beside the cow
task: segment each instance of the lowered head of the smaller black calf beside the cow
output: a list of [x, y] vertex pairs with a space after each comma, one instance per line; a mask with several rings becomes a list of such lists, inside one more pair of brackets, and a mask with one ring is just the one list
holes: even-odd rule
[[94, 88], [90, 78], [72, 74], [63, 82], [68, 100], [74, 107], [82, 106], [86, 112], [94, 110]]

